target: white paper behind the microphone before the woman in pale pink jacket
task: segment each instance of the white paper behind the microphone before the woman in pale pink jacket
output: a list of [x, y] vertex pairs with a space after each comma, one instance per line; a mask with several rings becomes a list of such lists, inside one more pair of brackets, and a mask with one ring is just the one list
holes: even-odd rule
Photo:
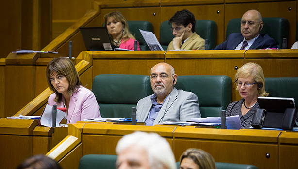
[[[47, 126], [47, 127], [52, 127], [53, 126], [53, 107], [50, 106], [49, 104], [47, 104], [45, 111], [43, 112], [43, 114], [41, 115], [40, 118], [40, 124], [43, 126]], [[63, 120], [63, 118], [65, 117], [66, 113], [57, 109], [57, 118], [56, 118], [56, 127], [59, 127], [59, 123]]]

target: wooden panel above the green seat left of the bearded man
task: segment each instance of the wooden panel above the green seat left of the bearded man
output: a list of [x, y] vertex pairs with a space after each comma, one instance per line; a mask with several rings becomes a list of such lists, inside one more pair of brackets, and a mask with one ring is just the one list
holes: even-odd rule
[[99, 74], [150, 75], [150, 69], [164, 62], [165, 51], [95, 51], [93, 76]]

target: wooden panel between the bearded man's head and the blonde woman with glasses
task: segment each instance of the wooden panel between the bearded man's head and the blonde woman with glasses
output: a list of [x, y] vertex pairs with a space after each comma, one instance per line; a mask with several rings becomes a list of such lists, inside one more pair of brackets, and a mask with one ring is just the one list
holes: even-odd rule
[[[234, 81], [236, 68], [243, 65], [244, 51], [167, 51], [166, 63], [175, 68], [179, 76], [186, 75], [226, 75]], [[241, 97], [232, 85], [232, 101]]]

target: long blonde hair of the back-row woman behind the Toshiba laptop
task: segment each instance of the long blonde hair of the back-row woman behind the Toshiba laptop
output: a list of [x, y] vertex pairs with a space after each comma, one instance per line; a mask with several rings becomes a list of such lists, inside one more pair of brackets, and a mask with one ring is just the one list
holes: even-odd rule
[[[123, 35], [122, 35], [122, 39], [124, 41], [127, 41], [129, 40], [129, 38], [132, 38], [135, 40], [135, 37], [130, 33], [129, 31], [129, 26], [127, 24], [127, 21], [126, 19], [124, 18], [124, 16], [122, 15], [121, 12], [119, 11], [113, 11], [113, 12], [110, 12], [110, 13], [107, 13], [104, 15], [104, 24], [105, 24], [105, 27], [106, 27], [106, 24], [107, 24], [107, 21], [110, 17], [113, 17], [115, 20], [121, 22], [123, 24]], [[110, 35], [110, 38], [112, 39], [113, 41], [113, 37]]]

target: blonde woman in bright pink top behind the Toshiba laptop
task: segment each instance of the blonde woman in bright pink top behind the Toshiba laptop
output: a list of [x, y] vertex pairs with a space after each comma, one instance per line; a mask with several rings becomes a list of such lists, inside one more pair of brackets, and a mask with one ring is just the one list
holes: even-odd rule
[[[121, 12], [113, 11], [104, 15], [105, 26], [115, 48], [134, 50], [134, 36], [130, 33], [126, 19]], [[138, 42], [138, 51], [140, 44]]]

